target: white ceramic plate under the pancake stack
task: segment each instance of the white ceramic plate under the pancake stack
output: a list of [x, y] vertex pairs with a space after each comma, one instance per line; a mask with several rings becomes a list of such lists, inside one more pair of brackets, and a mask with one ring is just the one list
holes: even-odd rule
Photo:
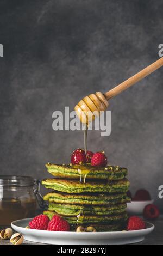
[[145, 236], [154, 229], [153, 224], [146, 222], [146, 229], [135, 231], [97, 233], [47, 231], [25, 228], [30, 220], [32, 219], [13, 221], [11, 227], [18, 233], [23, 234], [27, 241], [51, 245], [124, 245], [143, 241]]

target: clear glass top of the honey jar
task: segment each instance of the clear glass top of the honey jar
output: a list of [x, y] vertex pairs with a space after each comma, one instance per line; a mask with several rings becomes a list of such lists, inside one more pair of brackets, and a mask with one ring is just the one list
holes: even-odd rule
[[30, 176], [0, 175], [0, 187], [16, 186], [28, 187], [34, 185], [34, 179]]

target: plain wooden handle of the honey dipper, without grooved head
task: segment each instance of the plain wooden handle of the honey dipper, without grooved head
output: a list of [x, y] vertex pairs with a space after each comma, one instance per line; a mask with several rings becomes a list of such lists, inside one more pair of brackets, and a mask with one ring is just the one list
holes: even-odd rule
[[147, 66], [147, 68], [141, 70], [134, 76], [131, 76], [128, 80], [124, 81], [123, 83], [120, 83], [118, 86], [109, 90], [109, 92], [105, 93], [104, 96], [106, 97], [107, 100], [111, 99], [112, 97], [116, 96], [117, 94], [122, 93], [123, 90], [126, 90], [130, 86], [133, 86], [133, 84], [139, 82], [140, 80], [142, 80], [144, 77], [151, 74], [156, 69], [159, 69], [162, 65], [163, 65], [163, 57], [156, 60], [156, 62]]

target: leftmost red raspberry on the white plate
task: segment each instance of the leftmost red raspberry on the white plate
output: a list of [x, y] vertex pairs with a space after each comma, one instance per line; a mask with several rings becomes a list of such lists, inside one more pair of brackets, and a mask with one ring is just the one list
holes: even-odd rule
[[49, 217], [47, 215], [37, 215], [29, 222], [29, 227], [32, 229], [47, 230]]

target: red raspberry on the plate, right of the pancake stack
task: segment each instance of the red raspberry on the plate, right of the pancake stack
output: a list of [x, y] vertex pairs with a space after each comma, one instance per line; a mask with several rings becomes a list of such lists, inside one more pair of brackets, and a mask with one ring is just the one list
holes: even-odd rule
[[137, 216], [131, 216], [128, 219], [128, 225], [127, 230], [139, 230], [139, 229], [145, 229], [146, 223], [142, 220], [142, 218], [139, 218]]

